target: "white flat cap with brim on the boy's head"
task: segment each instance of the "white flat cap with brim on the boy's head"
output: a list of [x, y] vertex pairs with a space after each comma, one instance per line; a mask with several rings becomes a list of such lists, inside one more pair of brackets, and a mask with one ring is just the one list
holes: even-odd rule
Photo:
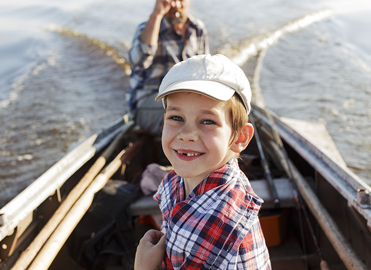
[[249, 80], [237, 64], [222, 54], [195, 55], [173, 65], [162, 79], [155, 100], [179, 91], [200, 93], [222, 101], [237, 92], [247, 114], [251, 109]]

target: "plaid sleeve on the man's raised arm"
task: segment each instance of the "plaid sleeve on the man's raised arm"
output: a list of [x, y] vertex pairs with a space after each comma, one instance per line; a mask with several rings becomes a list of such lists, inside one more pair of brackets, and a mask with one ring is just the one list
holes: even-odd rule
[[157, 45], [150, 45], [140, 40], [144, 27], [145, 22], [139, 24], [129, 50], [129, 60], [137, 68], [148, 68], [153, 63], [153, 57], [157, 51]]

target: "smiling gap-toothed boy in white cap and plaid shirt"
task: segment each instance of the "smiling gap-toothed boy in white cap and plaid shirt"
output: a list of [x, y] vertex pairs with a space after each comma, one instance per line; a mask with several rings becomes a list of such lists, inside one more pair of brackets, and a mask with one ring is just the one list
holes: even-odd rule
[[271, 269], [263, 200], [237, 162], [254, 132], [242, 69], [221, 54], [193, 56], [169, 70], [155, 99], [173, 166], [154, 195], [167, 232], [162, 269]]

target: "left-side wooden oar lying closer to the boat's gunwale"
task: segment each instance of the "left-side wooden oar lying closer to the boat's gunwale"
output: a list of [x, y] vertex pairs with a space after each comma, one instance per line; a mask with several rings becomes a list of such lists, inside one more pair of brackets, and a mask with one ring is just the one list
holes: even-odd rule
[[40, 248], [46, 242], [50, 234], [55, 230], [66, 213], [70, 210], [72, 205], [89, 186], [94, 177], [104, 167], [106, 160], [112, 155], [113, 151], [117, 148], [118, 143], [121, 141], [122, 136], [132, 126], [132, 123], [125, 125], [124, 129], [116, 136], [106, 150], [98, 157], [90, 169], [85, 173], [76, 186], [70, 191], [66, 199], [61, 203], [58, 209], [54, 212], [52, 217], [45, 224], [43, 229], [38, 233], [30, 245], [22, 252], [16, 263], [11, 268], [12, 270], [24, 270], [34, 259]]

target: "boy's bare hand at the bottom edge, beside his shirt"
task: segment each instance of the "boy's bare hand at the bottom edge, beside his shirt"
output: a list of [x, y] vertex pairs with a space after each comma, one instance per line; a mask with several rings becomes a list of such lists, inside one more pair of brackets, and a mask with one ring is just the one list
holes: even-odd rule
[[135, 253], [134, 270], [161, 269], [166, 233], [150, 229], [140, 239]]

